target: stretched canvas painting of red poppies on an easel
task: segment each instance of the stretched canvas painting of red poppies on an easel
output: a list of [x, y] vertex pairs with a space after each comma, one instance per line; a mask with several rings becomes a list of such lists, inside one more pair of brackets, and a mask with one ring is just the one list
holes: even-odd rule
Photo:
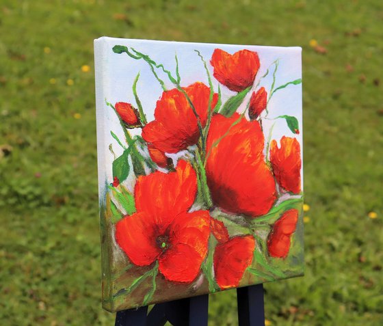
[[302, 275], [301, 49], [94, 49], [103, 307]]

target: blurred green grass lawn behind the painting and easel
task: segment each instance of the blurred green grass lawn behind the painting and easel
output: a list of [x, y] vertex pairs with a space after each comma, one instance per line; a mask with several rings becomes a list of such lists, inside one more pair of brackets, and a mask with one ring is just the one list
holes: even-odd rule
[[[303, 47], [306, 276], [265, 284], [267, 325], [383, 325], [382, 22], [380, 0], [2, 0], [0, 325], [114, 325], [100, 303], [99, 36]], [[237, 325], [235, 290], [209, 314]]]

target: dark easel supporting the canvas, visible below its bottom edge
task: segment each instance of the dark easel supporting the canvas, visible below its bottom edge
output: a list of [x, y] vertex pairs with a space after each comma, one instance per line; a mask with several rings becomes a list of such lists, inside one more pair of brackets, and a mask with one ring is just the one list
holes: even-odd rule
[[[237, 288], [238, 325], [265, 326], [263, 284]], [[207, 326], [209, 295], [158, 303], [122, 310], [116, 314], [115, 326], [163, 326], [169, 321], [173, 326]]]

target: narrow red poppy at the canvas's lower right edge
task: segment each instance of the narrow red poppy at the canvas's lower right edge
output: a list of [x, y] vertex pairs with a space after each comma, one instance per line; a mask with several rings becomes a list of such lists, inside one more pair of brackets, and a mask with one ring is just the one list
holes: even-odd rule
[[267, 240], [267, 249], [272, 257], [286, 258], [289, 254], [291, 234], [295, 232], [298, 222], [298, 210], [290, 209], [274, 223]]

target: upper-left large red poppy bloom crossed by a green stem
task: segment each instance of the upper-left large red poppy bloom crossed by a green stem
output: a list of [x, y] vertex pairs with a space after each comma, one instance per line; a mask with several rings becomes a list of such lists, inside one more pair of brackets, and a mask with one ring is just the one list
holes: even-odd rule
[[[183, 87], [196, 109], [202, 127], [207, 121], [210, 88], [204, 83]], [[211, 109], [215, 107], [218, 94], [213, 95]], [[197, 143], [200, 137], [197, 118], [185, 94], [174, 88], [163, 92], [155, 108], [155, 120], [142, 129], [142, 137], [155, 148], [167, 153], [185, 150]]]

